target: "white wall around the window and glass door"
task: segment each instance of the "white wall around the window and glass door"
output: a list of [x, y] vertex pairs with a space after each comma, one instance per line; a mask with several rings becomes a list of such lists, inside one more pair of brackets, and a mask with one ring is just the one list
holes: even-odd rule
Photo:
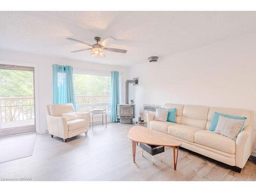
[[[37, 132], [45, 133], [47, 129], [46, 105], [52, 103], [52, 65], [69, 65], [74, 71], [87, 71], [91, 73], [104, 73], [106, 71], [119, 71], [122, 79], [122, 88], [127, 79], [127, 68], [99, 65], [83, 61], [48, 57], [44, 55], [0, 50], [0, 64], [32, 66], [35, 67], [35, 93], [36, 93], [36, 124]], [[124, 100], [124, 89], [122, 89], [122, 101]]]

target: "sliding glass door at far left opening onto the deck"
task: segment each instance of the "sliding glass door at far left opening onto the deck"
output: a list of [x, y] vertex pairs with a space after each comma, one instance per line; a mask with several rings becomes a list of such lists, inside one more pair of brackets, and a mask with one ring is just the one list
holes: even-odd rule
[[0, 65], [0, 137], [35, 132], [34, 68]]

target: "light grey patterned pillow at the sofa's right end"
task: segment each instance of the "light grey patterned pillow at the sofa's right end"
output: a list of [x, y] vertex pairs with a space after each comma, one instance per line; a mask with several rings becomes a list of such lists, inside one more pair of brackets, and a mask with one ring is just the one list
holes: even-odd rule
[[220, 115], [215, 133], [219, 133], [236, 141], [239, 130], [244, 125], [244, 122], [245, 120], [242, 119], [231, 119]]

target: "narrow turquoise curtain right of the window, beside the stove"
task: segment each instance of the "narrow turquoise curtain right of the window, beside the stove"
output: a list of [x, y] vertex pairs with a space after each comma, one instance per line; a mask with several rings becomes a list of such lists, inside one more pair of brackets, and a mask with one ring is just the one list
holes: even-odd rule
[[117, 104], [119, 104], [119, 72], [111, 72], [111, 122], [118, 122]]

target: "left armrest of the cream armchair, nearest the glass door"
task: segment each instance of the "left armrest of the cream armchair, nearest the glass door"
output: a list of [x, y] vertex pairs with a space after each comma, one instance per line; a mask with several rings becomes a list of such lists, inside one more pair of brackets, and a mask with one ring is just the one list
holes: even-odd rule
[[48, 132], [51, 135], [67, 139], [68, 123], [64, 117], [47, 116]]

